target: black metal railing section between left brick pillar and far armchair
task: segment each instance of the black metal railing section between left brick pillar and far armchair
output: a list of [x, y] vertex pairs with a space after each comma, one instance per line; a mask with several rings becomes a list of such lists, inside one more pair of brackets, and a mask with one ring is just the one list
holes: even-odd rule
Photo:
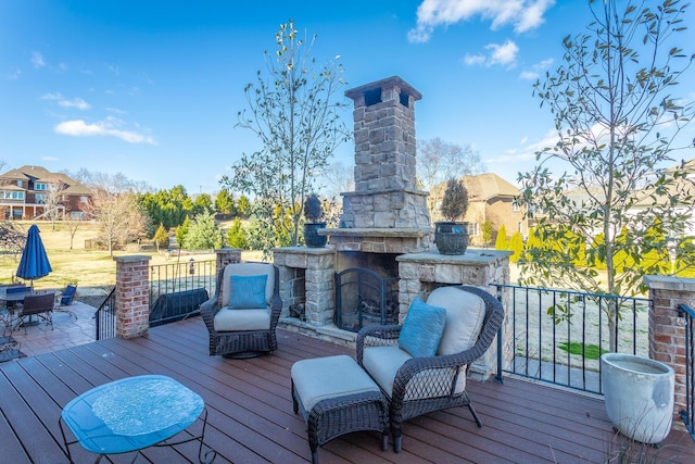
[[150, 266], [150, 325], [199, 314], [200, 303], [215, 294], [216, 262], [177, 262]]

